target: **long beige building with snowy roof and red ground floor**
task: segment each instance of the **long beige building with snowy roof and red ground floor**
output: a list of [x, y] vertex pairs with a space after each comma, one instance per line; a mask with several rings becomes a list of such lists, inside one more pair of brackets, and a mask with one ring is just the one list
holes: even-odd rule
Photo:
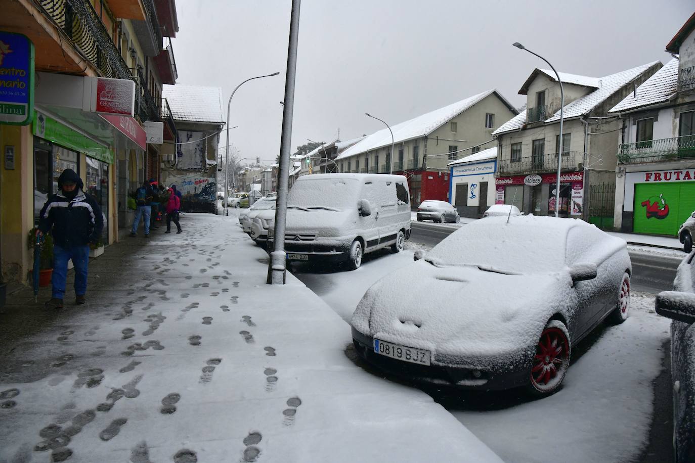
[[495, 146], [493, 131], [516, 114], [497, 90], [487, 90], [391, 127], [393, 163], [386, 128], [363, 137], [335, 161], [341, 172], [406, 176], [413, 208], [427, 199], [450, 201], [449, 162]]

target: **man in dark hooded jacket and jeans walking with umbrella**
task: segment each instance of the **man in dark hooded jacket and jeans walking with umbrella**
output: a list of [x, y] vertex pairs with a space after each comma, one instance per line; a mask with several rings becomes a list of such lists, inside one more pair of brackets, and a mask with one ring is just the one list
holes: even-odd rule
[[89, 244], [96, 243], [104, 228], [97, 201], [83, 192], [82, 179], [72, 169], [58, 177], [58, 194], [49, 196], [41, 210], [38, 235], [53, 236], [53, 292], [47, 308], [63, 308], [67, 261], [75, 268], [75, 303], [85, 303]]

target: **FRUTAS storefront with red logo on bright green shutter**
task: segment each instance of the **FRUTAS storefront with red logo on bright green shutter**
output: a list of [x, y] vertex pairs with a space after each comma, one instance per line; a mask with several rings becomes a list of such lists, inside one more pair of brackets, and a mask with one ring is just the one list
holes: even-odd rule
[[621, 230], [676, 236], [695, 211], [695, 169], [624, 174]]

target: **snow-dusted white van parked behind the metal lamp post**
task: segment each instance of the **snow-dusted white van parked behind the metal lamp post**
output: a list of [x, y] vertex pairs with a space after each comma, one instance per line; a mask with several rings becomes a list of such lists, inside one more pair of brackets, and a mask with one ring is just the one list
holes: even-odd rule
[[[274, 224], [268, 224], [272, 241]], [[287, 198], [287, 260], [347, 261], [410, 237], [408, 180], [400, 175], [315, 174], [297, 178]]]

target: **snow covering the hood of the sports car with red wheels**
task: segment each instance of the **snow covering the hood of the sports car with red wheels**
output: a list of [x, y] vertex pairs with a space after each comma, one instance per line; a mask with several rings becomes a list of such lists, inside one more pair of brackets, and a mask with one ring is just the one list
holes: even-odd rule
[[517, 353], [537, 342], [559, 305], [571, 303], [570, 285], [566, 272], [506, 275], [420, 260], [368, 289], [351, 323], [435, 355]]

